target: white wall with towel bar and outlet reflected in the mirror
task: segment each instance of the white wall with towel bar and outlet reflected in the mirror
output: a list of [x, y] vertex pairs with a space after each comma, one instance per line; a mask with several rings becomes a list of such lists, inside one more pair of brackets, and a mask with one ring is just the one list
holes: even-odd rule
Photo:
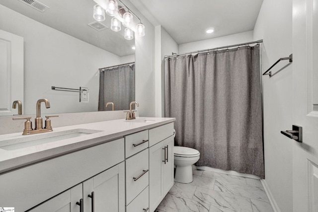
[[[8, 17], [14, 17], [7, 21]], [[24, 38], [24, 114], [36, 113], [36, 101], [47, 98], [44, 113], [97, 111], [98, 68], [121, 63], [121, 58], [82, 42], [0, 5], [0, 28]], [[131, 59], [131, 57], [130, 57]], [[52, 90], [51, 86], [89, 88], [89, 103], [78, 92]]]

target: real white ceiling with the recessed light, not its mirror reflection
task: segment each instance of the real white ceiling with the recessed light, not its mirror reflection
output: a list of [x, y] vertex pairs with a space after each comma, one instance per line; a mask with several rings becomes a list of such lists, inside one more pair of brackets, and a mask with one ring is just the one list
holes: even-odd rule
[[[263, 0], [130, 1], [155, 26], [161, 25], [177, 44], [253, 30], [263, 2]], [[205, 31], [208, 28], [214, 28], [214, 33], [207, 34]]]

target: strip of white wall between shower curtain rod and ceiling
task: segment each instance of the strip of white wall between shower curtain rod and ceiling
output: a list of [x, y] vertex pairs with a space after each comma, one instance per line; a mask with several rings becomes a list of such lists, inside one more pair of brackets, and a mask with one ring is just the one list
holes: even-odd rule
[[[211, 38], [202, 41], [180, 44], [178, 53], [181, 54], [187, 52], [194, 52], [198, 50], [236, 45], [239, 43], [246, 43], [251, 41], [253, 41], [253, 31], [247, 31], [218, 38]], [[169, 55], [171, 55], [171, 52], [169, 53]]]

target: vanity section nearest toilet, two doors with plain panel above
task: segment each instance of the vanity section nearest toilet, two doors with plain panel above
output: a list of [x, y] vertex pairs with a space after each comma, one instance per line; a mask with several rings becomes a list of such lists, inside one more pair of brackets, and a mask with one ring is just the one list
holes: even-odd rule
[[149, 209], [154, 212], [173, 186], [173, 123], [149, 130]]

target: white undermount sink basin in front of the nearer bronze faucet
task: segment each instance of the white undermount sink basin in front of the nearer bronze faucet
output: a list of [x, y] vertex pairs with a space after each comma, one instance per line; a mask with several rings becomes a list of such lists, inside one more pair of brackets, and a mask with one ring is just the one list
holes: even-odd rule
[[4, 150], [16, 150], [29, 146], [35, 146], [39, 144], [61, 141], [65, 139], [76, 138], [80, 136], [86, 136], [93, 133], [99, 133], [98, 130], [88, 129], [75, 129], [53, 133], [40, 133], [32, 136], [23, 136], [19, 138], [10, 138], [8, 140], [0, 141], [0, 148]]

